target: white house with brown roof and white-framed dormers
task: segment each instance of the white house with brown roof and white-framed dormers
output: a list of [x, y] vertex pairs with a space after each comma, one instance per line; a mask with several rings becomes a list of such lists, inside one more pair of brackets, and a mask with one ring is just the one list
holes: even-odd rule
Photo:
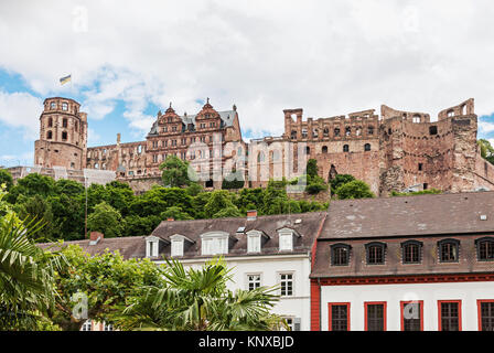
[[279, 285], [280, 301], [272, 312], [292, 330], [310, 330], [311, 248], [325, 213], [164, 221], [146, 238], [146, 256], [180, 259], [201, 267], [222, 256], [233, 267], [229, 289]]

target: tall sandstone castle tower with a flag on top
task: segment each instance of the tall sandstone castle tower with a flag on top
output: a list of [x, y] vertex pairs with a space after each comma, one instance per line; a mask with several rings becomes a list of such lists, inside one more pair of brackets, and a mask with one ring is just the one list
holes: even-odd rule
[[86, 167], [87, 114], [74, 99], [53, 97], [44, 100], [40, 116], [40, 139], [34, 142], [34, 164], [44, 168]]

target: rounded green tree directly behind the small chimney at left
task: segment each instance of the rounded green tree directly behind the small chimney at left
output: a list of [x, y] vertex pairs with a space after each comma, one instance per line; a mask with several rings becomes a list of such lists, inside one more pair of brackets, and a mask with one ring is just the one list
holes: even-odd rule
[[106, 202], [95, 206], [95, 211], [87, 217], [87, 228], [105, 234], [105, 237], [112, 238], [121, 236], [124, 222], [120, 212], [111, 207]]

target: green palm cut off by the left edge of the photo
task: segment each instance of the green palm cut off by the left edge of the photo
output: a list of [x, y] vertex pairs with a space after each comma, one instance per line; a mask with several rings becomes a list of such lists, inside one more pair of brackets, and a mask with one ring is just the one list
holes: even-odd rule
[[30, 237], [41, 223], [25, 223], [3, 201], [0, 188], [0, 330], [33, 330], [55, 301], [55, 253], [45, 253]]

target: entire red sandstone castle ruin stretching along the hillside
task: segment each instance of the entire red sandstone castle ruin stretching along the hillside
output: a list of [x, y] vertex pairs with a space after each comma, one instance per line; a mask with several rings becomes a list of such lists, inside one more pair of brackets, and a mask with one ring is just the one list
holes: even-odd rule
[[[302, 146], [307, 158], [316, 159], [324, 180], [352, 174], [382, 196], [390, 191], [432, 188], [445, 192], [494, 190], [494, 165], [482, 159], [476, 142], [473, 98], [441, 110], [433, 122], [429, 114], [385, 105], [380, 117], [369, 109], [305, 121], [302, 109], [286, 109], [281, 137], [249, 143], [243, 141], [236, 106], [217, 111], [207, 99], [196, 115], [179, 116], [171, 105], [164, 114], [159, 111], [146, 141], [121, 143], [117, 133], [116, 145], [87, 147], [87, 115], [79, 108], [69, 98], [44, 100], [40, 139], [34, 145], [35, 165], [115, 171], [117, 180], [142, 192], [161, 182], [159, 165], [167, 156], [175, 154], [194, 164], [207, 154], [212, 157], [207, 163], [237, 165], [234, 169], [246, 172], [245, 186], [256, 188], [265, 186], [270, 178], [290, 176], [289, 170], [298, 169], [287, 167], [287, 149], [279, 148], [290, 145], [291, 160], [297, 161]], [[191, 149], [195, 145], [202, 148]], [[264, 149], [255, 148], [261, 145]], [[214, 151], [214, 146], [219, 151]], [[240, 154], [251, 158], [239, 163], [236, 157]], [[203, 185], [221, 188], [221, 180], [211, 179]]]

